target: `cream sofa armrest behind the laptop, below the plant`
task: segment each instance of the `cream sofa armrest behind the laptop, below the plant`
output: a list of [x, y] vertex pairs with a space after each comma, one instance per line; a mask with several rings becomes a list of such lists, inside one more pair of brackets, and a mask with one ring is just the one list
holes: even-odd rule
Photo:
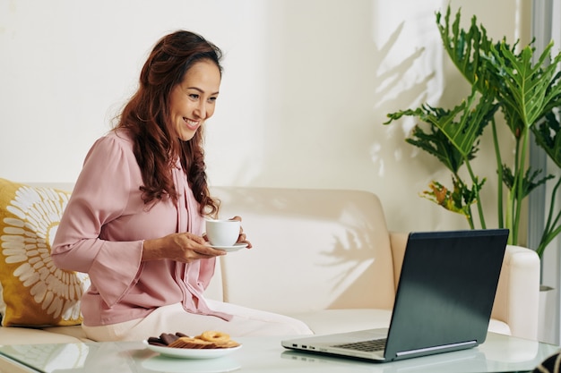
[[511, 335], [538, 339], [539, 271], [534, 250], [506, 246], [491, 318], [510, 326]]

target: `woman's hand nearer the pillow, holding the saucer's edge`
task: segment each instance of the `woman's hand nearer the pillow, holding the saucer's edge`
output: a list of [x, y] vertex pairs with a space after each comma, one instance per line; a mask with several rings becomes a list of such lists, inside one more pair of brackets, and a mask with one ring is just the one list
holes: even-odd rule
[[189, 263], [224, 254], [226, 251], [211, 248], [203, 237], [193, 233], [172, 233], [162, 238], [144, 240], [142, 246], [142, 261], [172, 259]]

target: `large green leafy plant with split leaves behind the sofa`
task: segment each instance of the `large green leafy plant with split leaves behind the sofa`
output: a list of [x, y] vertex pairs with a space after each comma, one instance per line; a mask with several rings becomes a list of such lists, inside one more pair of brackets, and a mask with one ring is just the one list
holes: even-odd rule
[[[471, 228], [488, 227], [480, 199], [486, 179], [479, 178], [471, 161], [477, 156], [481, 136], [492, 136], [498, 178], [497, 226], [510, 230], [509, 244], [524, 244], [519, 242], [522, 201], [539, 185], [557, 179], [539, 246], [532, 248], [541, 258], [548, 243], [561, 233], [561, 211], [555, 210], [561, 175], [532, 170], [527, 158], [533, 133], [539, 147], [561, 169], [561, 53], [550, 56], [553, 43], [549, 43], [534, 63], [531, 44], [516, 52], [518, 41], [512, 47], [505, 39], [494, 43], [475, 16], [469, 30], [463, 30], [460, 21], [460, 10], [451, 21], [450, 6], [444, 18], [436, 13], [444, 49], [471, 85], [469, 97], [452, 109], [424, 104], [391, 113], [384, 124], [404, 115], [419, 119], [421, 123], [406, 141], [437, 157], [452, 173], [451, 186], [433, 181], [421, 195], [462, 214]], [[503, 163], [497, 123], [505, 123], [514, 138], [513, 165]]]

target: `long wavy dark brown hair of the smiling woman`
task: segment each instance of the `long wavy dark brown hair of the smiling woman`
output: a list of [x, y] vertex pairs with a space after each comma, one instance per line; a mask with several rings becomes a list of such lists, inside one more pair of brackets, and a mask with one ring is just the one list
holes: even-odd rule
[[220, 49], [200, 35], [178, 30], [158, 41], [142, 67], [139, 89], [125, 105], [117, 128], [125, 128], [133, 136], [145, 204], [167, 198], [177, 202], [171, 169], [179, 159], [199, 202], [199, 214], [218, 213], [219, 200], [211, 197], [207, 184], [203, 127], [193, 139], [179, 140], [169, 120], [169, 96], [196, 62], [210, 60], [221, 73], [221, 57]]

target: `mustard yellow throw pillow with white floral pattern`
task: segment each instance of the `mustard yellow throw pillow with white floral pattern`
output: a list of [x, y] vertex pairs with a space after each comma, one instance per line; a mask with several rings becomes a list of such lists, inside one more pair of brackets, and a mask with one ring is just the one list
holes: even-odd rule
[[87, 275], [55, 267], [50, 249], [70, 193], [0, 179], [2, 326], [82, 323]]

